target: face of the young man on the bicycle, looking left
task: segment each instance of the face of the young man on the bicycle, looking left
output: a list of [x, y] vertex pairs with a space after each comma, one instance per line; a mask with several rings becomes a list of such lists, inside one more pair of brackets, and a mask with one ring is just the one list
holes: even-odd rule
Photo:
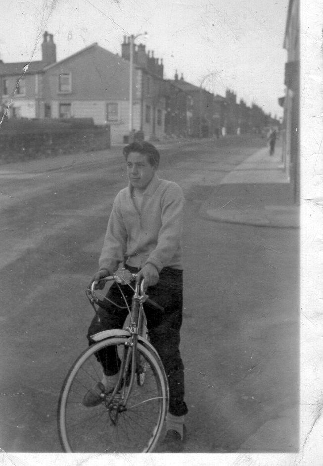
[[156, 167], [150, 165], [147, 155], [131, 152], [127, 159], [127, 175], [130, 183], [143, 192], [154, 176]]

